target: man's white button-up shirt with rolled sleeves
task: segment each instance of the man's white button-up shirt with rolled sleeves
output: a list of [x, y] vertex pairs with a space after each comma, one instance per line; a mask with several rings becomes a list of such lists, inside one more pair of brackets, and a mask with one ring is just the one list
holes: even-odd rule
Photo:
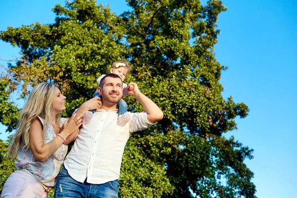
[[117, 125], [117, 110], [99, 109], [82, 126], [66, 156], [64, 166], [78, 182], [103, 184], [119, 178], [122, 156], [131, 133], [150, 127], [147, 112], [131, 113], [123, 126]]

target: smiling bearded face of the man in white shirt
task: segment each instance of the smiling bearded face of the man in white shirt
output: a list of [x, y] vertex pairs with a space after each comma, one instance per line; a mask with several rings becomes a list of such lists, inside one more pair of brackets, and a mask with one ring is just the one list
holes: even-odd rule
[[102, 96], [102, 105], [116, 105], [123, 96], [123, 82], [120, 78], [106, 77], [101, 87], [98, 92]]

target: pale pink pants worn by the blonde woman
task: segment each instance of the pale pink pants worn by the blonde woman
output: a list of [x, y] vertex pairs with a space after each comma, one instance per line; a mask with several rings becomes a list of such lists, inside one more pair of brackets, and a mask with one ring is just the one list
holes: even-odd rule
[[47, 198], [48, 193], [30, 174], [16, 170], [6, 180], [1, 198]]

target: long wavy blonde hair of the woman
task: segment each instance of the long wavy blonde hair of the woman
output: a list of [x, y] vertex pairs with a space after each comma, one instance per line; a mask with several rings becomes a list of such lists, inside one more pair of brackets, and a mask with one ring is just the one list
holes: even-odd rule
[[[38, 116], [45, 120], [43, 124], [43, 138], [44, 141], [46, 140], [46, 131], [49, 127], [49, 124], [47, 123], [50, 123], [50, 114], [53, 112], [51, 103], [56, 88], [56, 85], [50, 83], [41, 83], [34, 87], [30, 93], [20, 113], [15, 134], [12, 136], [8, 146], [8, 157], [10, 160], [14, 160], [16, 158], [21, 143], [23, 145], [23, 148], [21, 149], [28, 149], [30, 147], [30, 126]], [[56, 125], [60, 126], [60, 115], [58, 114], [56, 118], [56, 120], [58, 120]]]

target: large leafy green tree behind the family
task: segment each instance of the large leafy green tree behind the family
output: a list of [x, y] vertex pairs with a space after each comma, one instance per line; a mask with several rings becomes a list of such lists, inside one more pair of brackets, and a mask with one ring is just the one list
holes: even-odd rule
[[[255, 198], [253, 173], [244, 163], [252, 149], [223, 134], [236, 130], [245, 103], [223, 99], [220, 65], [214, 56], [220, 0], [127, 0], [130, 11], [115, 15], [95, 0], [57, 4], [52, 24], [8, 27], [0, 39], [21, 49], [9, 65], [10, 90], [42, 81], [58, 84], [70, 116], [90, 99], [96, 79], [126, 58], [134, 71], [126, 82], [163, 110], [157, 125], [134, 133], [126, 146], [119, 197]], [[17, 86], [21, 84], [21, 86]], [[124, 98], [131, 111], [143, 108]]]

